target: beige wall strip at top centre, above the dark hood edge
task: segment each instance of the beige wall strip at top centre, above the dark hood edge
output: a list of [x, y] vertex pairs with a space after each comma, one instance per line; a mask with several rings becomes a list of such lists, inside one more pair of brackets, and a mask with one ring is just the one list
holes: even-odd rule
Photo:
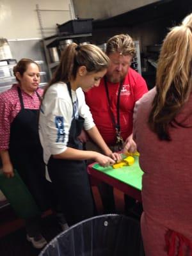
[[157, 0], [73, 0], [79, 18], [107, 19]]

